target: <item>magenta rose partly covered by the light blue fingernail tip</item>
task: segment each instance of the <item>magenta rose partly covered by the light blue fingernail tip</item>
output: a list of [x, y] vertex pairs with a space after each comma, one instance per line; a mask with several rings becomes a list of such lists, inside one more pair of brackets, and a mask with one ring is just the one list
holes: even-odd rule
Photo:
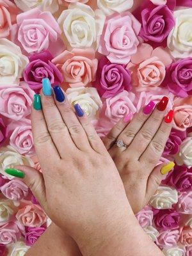
[[58, 68], [51, 62], [52, 55], [49, 51], [40, 52], [29, 56], [29, 64], [24, 70], [24, 81], [35, 92], [42, 88], [42, 79], [49, 78], [51, 84], [63, 82], [63, 76]]

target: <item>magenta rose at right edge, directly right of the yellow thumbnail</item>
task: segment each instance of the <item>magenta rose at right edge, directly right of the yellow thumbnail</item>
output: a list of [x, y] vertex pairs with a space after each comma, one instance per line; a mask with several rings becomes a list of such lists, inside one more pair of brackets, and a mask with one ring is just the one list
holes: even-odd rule
[[192, 190], [192, 168], [183, 166], [175, 166], [173, 171], [168, 173], [163, 184], [172, 186], [180, 192]]

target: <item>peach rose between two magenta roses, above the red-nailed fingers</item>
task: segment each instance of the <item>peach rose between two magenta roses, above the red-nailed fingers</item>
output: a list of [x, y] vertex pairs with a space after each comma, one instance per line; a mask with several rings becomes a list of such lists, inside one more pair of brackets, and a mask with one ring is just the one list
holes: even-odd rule
[[172, 63], [170, 54], [163, 47], [153, 49], [151, 45], [141, 44], [131, 56], [127, 68], [131, 70], [132, 84], [138, 92], [156, 90], [165, 76], [165, 66]]

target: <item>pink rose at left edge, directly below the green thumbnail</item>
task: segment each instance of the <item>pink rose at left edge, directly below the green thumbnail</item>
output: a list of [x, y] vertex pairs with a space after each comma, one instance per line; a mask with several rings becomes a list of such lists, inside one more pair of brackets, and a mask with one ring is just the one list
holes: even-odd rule
[[1, 186], [0, 190], [10, 200], [21, 200], [28, 195], [28, 186], [18, 179], [10, 180]]

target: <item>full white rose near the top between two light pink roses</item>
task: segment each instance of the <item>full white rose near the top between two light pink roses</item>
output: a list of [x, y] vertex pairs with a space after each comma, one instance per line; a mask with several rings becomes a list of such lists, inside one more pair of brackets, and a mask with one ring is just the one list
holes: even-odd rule
[[66, 44], [71, 47], [98, 47], [98, 36], [101, 35], [105, 16], [100, 10], [95, 12], [90, 6], [82, 3], [69, 4], [58, 23], [67, 38]]

